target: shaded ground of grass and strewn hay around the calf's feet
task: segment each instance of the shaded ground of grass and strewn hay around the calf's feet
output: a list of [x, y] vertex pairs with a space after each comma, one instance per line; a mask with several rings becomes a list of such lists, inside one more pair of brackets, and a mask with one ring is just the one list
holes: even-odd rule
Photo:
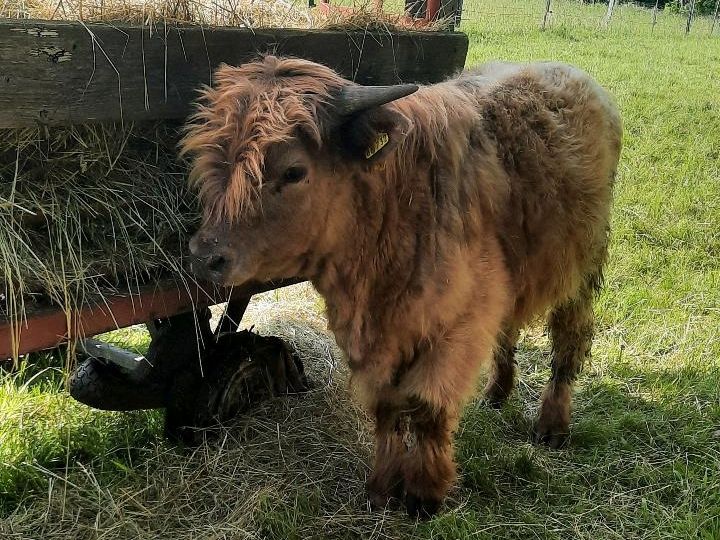
[[[720, 507], [717, 404], [694, 406], [670, 370], [622, 364], [581, 377], [566, 449], [536, 447], [529, 433], [547, 353], [523, 344], [522, 382], [503, 410], [468, 406], [457, 435], [458, 487], [428, 523], [367, 510], [371, 428], [350, 401], [346, 374], [307, 357], [315, 381], [333, 382], [259, 404], [198, 449], [165, 443], [159, 413], [73, 404], [60, 446], [37, 453], [32, 465], [25, 456], [6, 484], [6, 493], [15, 491], [3, 505], [6, 521], [44, 538], [80, 537], [92, 527], [105, 538], [216, 530], [266, 538], [714, 538], [707, 535]], [[54, 526], [41, 525], [41, 515]]]

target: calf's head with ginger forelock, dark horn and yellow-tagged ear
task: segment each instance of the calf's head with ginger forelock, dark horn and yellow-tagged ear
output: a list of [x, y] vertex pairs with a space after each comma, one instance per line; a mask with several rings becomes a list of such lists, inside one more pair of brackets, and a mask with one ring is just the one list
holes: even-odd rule
[[352, 242], [354, 179], [407, 135], [410, 121], [387, 104], [416, 89], [359, 86], [272, 56], [219, 68], [182, 143], [203, 206], [193, 270], [223, 284], [311, 278]]

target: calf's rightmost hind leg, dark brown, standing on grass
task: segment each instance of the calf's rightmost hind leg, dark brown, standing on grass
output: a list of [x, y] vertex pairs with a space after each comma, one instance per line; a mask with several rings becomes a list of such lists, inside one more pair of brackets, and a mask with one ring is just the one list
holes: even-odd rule
[[548, 318], [552, 375], [543, 392], [533, 439], [551, 448], [564, 445], [569, 435], [572, 387], [590, 355], [594, 333], [592, 301], [599, 286], [599, 274], [588, 276], [577, 295], [556, 306]]

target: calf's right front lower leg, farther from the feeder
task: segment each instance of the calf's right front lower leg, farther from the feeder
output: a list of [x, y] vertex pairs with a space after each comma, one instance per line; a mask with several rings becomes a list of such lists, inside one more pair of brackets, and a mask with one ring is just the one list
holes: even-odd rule
[[457, 414], [420, 398], [412, 398], [409, 405], [403, 437], [405, 504], [411, 517], [425, 519], [440, 509], [455, 481], [452, 432]]

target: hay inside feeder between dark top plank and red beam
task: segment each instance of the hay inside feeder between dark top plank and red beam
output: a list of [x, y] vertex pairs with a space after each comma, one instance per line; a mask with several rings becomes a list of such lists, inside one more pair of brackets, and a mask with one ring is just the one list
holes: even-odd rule
[[182, 277], [197, 209], [166, 123], [0, 131], [0, 315]]

